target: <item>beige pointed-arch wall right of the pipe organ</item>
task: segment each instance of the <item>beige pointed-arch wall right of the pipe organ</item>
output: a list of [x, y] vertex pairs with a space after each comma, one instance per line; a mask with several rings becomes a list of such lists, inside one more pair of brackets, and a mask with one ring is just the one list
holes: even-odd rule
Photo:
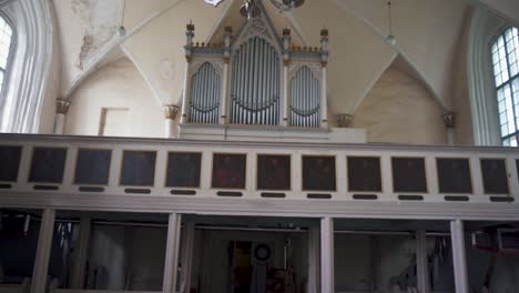
[[397, 59], [355, 112], [353, 127], [365, 128], [368, 142], [446, 144], [442, 114], [438, 101]]

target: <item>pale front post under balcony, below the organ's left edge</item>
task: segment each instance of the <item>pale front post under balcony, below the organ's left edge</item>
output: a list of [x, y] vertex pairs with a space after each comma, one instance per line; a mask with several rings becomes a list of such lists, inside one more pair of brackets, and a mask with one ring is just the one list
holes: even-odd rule
[[167, 242], [166, 255], [164, 265], [164, 281], [162, 286], [163, 293], [176, 292], [176, 275], [179, 272], [179, 244], [180, 244], [180, 228], [182, 215], [177, 213], [170, 214], [167, 223]]

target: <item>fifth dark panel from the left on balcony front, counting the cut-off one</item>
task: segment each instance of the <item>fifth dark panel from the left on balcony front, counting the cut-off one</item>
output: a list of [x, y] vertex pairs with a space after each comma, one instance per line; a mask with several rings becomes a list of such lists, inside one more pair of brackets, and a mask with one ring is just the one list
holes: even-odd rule
[[167, 154], [167, 188], [200, 188], [201, 153], [171, 152]]

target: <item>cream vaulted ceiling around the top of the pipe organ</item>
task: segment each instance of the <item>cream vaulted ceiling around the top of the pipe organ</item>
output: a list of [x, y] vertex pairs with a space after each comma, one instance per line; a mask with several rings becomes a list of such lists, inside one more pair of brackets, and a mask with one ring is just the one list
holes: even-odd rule
[[[98, 68], [126, 57], [163, 104], [180, 103], [184, 78], [185, 24], [196, 26], [195, 41], [217, 41], [223, 27], [237, 28], [240, 0], [217, 8], [203, 0], [52, 0], [61, 51], [61, 95], [69, 98]], [[293, 41], [318, 46], [319, 30], [330, 33], [329, 102], [335, 111], [353, 113], [395, 58], [408, 62], [448, 111], [460, 43], [471, 14], [470, 0], [394, 0], [394, 34], [388, 34], [384, 0], [307, 0], [288, 13], [263, 1], [276, 30], [291, 28]], [[486, 1], [516, 21], [515, 0]], [[516, 19], [513, 18], [516, 16]], [[517, 20], [519, 23], [519, 20]], [[121, 23], [126, 34], [118, 32]]]

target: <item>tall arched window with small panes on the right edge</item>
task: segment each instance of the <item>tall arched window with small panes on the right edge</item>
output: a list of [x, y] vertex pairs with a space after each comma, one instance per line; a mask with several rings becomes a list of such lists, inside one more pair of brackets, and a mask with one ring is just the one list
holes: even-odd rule
[[519, 141], [519, 36], [517, 28], [506, 29], [491, 47], [497, 89], [501, 141], [518, 146]]

